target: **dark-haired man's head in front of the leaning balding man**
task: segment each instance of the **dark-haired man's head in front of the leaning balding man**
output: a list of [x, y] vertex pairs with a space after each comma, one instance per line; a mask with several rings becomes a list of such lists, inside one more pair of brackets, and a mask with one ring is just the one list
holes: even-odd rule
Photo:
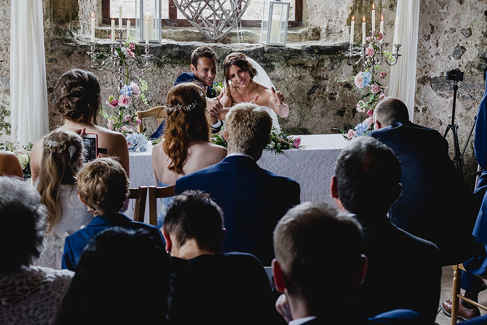
[[361, 136], [338, 156], [332, 197], [352, 213], [382, 216], [401, 195], [400, 179], [401, 165], [392, 150], [373, 137]]

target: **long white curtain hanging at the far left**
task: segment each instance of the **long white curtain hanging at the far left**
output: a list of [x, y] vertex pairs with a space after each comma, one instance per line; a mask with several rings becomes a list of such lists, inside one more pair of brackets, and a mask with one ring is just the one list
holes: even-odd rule
[[12, 0], [10, 12], [12, 133], [27, 144], [49, 130], [42, 0]]

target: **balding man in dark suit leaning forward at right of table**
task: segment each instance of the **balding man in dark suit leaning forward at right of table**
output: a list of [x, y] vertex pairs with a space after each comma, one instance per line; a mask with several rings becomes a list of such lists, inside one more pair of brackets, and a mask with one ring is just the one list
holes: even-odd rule
[[[442, 265], [458, 264], [475, 253], [475, 203], [448, 154], [447, 140], [436, 130], [409, 121], [408, 108], [386, 97], [374, 111], [375, 131], [401, 163], [403, 192], [389, 218], [399, 228], [440, 248]], [[452, 226], [455, 224], [455, 226]], [[462, 245], [452, 245], [452, 238]]]

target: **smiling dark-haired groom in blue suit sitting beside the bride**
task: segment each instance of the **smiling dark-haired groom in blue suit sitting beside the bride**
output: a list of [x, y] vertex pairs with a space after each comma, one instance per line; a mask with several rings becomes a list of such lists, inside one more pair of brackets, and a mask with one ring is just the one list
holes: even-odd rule
[[[217, 96], [213, 89], [216, 72], [217, 60], [215, 51], [208, 46], [197, 47], [191, 53], [191, 72], [179, 74], [174, 85], [182, 82], [198, 82], [204, 91], [206, 91], [206, 111], [211, 122], [211, 132], [218, 132], [223, 122], [217, 118], [217, 114], [223, 108], [220, 103], [220, 95]], [[159, 138], [164, 134], [164, 121], [157, 128], [157, 131], [151, 135], [151, 138]]]

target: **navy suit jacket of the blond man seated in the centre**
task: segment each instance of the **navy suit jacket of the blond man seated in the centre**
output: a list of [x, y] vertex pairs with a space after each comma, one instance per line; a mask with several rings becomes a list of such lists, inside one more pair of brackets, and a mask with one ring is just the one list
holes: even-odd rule
[[300, 203], [299, 184], [260, 168], [247, 156], [227, 156], [221, 162], [176, 181], [176, 194], [200, 189], [222, 208], [227, 232], [224, 252], [254, 254], [264, 265], [274, 257], [272, 232], [286, 211]]

